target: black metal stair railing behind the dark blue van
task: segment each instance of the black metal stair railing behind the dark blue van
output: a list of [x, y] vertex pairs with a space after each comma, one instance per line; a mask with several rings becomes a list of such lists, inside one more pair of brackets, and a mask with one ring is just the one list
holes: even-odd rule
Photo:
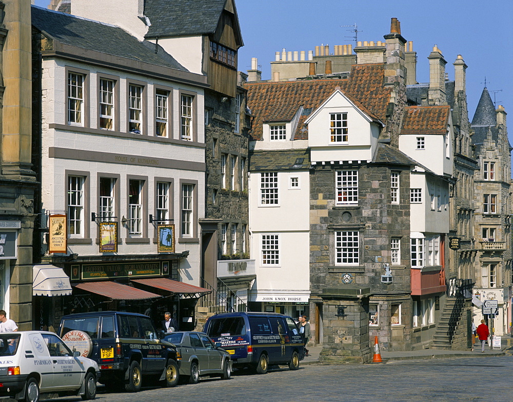
[[237, 311], [250, 311], [248, 308], [248, 300], [250, 298], [250, 290], [247, 291], [246, 297], [242, 299], [237, 292], [232, 290], [222, 279], [218, 278], [218, 286], [214, 288], [204, 278], [201, 278], [203, 288], [212, 292], [200, 298], [201, 307], [206, 307], [212, 313], [232, 313]]

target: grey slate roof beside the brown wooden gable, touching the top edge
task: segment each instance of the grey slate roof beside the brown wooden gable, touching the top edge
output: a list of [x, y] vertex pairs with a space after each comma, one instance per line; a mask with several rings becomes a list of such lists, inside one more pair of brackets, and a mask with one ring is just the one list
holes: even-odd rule
[[226, 0], [146, 0], [151, 23], [146, 37], [209, 34], [215, 31]]

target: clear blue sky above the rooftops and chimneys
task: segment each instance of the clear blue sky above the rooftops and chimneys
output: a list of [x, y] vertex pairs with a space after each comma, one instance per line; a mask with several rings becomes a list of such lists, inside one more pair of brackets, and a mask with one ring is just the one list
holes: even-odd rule
[[[108, 1], [108, 0], [107, 0]], [[49, 0], [36, 0], [46, 7]], [[193, 0], [191, 1], [193, 4]], [[427, 56], [438, 45], [449, 79], [452, 63], [461, 54], [467, 68], [469, 118], [476, 110], [486, 77], [488, 90], [513, 121], [513, 2], [510, 0], [236, 0], [245, 46], [239, 50], [239, 70], [250, 69], [258, 58], [263, 79], [270, 79], [274, 52], [313, 50], [315, 46], [353, 44], [351, 28], [358, 26], [361, 41], [381, 41], [390, 31], [390, 18], [401, 21], [401, 33], [417, 51], [417, 80], [428, 82]], [[491, 92], [492, 100], [494, 93]], [[513, 143], [513, 128], [509, 130]]]

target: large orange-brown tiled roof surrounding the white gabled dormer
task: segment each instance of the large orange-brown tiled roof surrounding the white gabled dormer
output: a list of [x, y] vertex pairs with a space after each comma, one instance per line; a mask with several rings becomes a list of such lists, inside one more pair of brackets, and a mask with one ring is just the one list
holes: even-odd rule
[[247, 106], [253, 120], [253, 140], [262, 138], [263, 123], [290, 121], [301, 106], [299, 124], [294, 140], [308, 139], [304, 122], [337, 89], [340, 89], [358, 108], [375, 121], [385, 121], [391, 88], [383, 85], [383, 64], [354, 65], [348, 79], [318, 79], [280, 82], [245, 83]]

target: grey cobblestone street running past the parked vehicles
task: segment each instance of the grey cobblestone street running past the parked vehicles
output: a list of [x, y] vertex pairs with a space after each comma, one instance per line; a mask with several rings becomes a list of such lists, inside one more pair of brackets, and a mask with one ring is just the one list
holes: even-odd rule
[[146, 388], [137, 394], [102, 390], [96, 400], [511, 401], [512, 383], [513, 358], [490, 356], [395, 361], [383, 365], [309, 365], [295, 372], [280, 369], [265, 375], [236, 372], [228, 381], [212, 378], [173, 389]]

